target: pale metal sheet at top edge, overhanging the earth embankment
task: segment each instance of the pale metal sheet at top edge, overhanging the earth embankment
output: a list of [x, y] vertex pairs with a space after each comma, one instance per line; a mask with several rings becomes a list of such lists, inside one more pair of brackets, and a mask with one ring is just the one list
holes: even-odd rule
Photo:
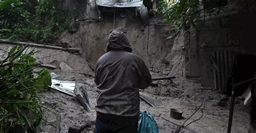
[[130, 1], [120, 1], [120, 0], [96, 0], [97, 6], [105, 6], [112, 8], [132, 8], [140, 7], [143, 4], [143, 0], [130, 0]]

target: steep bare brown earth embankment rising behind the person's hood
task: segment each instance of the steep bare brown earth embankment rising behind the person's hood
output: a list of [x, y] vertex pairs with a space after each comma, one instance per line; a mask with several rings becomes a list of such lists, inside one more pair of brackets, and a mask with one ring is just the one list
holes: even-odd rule
[[[133, 53], [143, 58], [147, 66], [162, 71], [170, 68], [170, 55], [173, 40], [166, 40], [169, 36], [169, 26], [142, 26], [138, 19], [127, 15], [125, 18], [115, 19], [115, 29], [126, 32], [126, 36], [133, 47]], [[156, 20], [151, 21], [156, 24]], [[161, 22], [160, 22], [161, 23]], [[59, 39], [60, 44], [82, 49], [82, 57], [92, 65], [105, 53], [107, 37], [113, 30], [113, 18], [105, 17], [103, 21], [80, 22], [78, 32], [64, 33]]]

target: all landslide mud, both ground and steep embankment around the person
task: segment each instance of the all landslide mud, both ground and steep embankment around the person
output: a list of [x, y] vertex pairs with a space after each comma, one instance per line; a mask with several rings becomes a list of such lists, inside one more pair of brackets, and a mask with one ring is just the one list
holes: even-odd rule
[[[151, 19], [151, 24], [161, 24], [159, 20]], [[52, 110], [45, 110], [45, 120], [53, 123], [42, 122], [38, 132], [67, 132], [70, 127], [80, 129], [82, 132], [93, 132], [96, 112], [96, 85], [93, 80], [93, 68], [95, 61], [105, 53], [107, 35], [112, 29], [111, 18], [104, 18], [104, 21], [84, 22], [80, 24], [77, 33], [65, 32], [58, 40], [59, 45], [80, 48], [80, 53], [71, 54], [65, 62], [73, 71], [63, 72], [60, 68], [53, 70], [60, 80], [76, 81], [82, 83], [86, 88], [93, 106], [87, 112], [76, 97], [68, 96], [48, 90], [40, 94], [43, 104]], [[127, 15], [125, 18], [117, 17], [116, 27], [125, 30], [127, 38], [134, 48], [133, 53], [142, 57], [150, 68], [153, 78], [164, 76], [177, 76], [173, 80], [157, 81], [158, 87], [149, 87], [142, 92], [150, 97], [162, 101], [162, 108], [153, 108], [144, 101], [140, 101], [140, 111], [149, 110], [154, 116], [161, 132], [171, 132], [176, 125], [167, 122], [172, 121], [182, 124], [203, 101], [201, 109], [190, 119], [188, 124], [198, 119], [203, 110], [203, 117], [191, 123], [181, 132], [226, 132], [228, 124], [228, 102], [230, 97], [220, 95], [212, 88], [204, 88], [196, 83], [198, 79], [184, 78], [184, 66], [186, 53], [184, 52], [184, 37], [180, 36], [175, 40], [166, 40], [170, 27], [148, 25], [142, 27], [138, 19]], [[59, 65], [59, 61], [51, 62], [52, 65]], [[247, 132], [250, 122], [249, 108], [242, 106], [237, 100], [234, 109], [232, 132]], [[170, 109], [182, 110], [183, 119], [174, 120], [170, 117]], [[163, 118], [166, 120], [164, 120]]]

